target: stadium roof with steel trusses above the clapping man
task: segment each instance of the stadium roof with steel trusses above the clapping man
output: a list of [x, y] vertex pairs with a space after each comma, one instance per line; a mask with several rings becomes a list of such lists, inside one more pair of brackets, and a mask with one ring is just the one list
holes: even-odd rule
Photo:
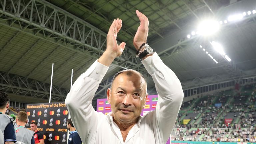
[[[255, 8], [254, 0], [1, 1], [0, 89], [49, 99], [54, 63], [52, 100], [64, 101], [71, 69], [74, 83], [105, 50], [108, 28], [113, 19], [120, 18], [123, 26], [117, 39], [126, 42], [126, 50], [110, 66], [94, 99], [105, 97], [112, 76], [123, 69], [144, 74], [149, 94], [155, 94], [153, 80], [135, 57], [132, 40], [139, 26], [137, 9], [149, 18], [148, 43], [177, 74], [183, 89], [216, 79], [255, 76]], [[243, 12], [239, 20], [229, 18]], [[191, 33], [204, 19], [222, 21], [215, 35]], [[230, 62], [213, 49], [212, 41], [223, 46]]]

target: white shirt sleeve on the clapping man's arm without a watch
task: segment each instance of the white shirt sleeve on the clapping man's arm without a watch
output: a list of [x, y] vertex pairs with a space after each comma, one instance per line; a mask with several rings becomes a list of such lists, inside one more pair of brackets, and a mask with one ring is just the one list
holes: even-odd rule
[[96, 131], [98, 113], [93, 109], [92, 99], [107, 70], [107, 66], [96, 60], [77, 78], [65, 100], [71, 120], [77, 132], [83, 136], [84, 143], [88, 135]]

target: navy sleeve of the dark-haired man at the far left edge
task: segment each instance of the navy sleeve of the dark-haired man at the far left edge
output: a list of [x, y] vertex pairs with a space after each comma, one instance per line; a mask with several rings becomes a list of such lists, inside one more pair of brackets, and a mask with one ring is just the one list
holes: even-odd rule
[[12, 122], [10, 122], [4, 129], [4, 141], [12, 141], [16, 143], [16, 135], [14, 130], [14, 125]]

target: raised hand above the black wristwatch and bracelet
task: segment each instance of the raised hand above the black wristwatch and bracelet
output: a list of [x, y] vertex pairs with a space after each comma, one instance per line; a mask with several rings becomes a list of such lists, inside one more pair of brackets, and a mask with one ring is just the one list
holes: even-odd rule
[[133, 45], [136, 50], [138, 50], [143, 43], [147, 42], [149, 22], [148, 18], [143, 13], [136, 10], [136, 14], [140, 19], [140, 26], [138, 27], [138, 30], [134, 36]]

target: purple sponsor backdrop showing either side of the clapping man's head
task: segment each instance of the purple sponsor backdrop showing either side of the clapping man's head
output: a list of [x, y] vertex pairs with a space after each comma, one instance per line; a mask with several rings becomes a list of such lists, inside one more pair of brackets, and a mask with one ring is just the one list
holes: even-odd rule
[[[156, 103], [158, 101], [158, 95], [149, 95], [146, 106], [142, 109], [140, 115], [145, 115], [149, 111], [154, 110], [156, 108]], [[97, 99], [97, 112], [102, 112], [104, 114], [108, 114], [111, 112], [110, 104], [108, 103], [107, 99]], [[170, 139], [168, 139], [166, 144], [170, 144]]]

